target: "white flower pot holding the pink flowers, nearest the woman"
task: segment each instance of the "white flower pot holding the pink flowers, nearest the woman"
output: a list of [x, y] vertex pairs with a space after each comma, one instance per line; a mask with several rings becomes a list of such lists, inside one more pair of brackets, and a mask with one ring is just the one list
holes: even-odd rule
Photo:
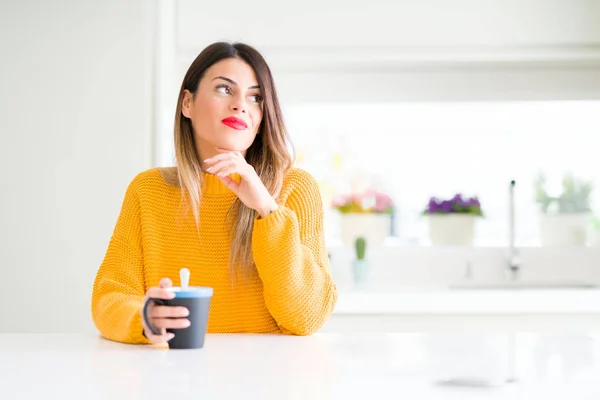
[[347, 246], [354, 246], [358, 237], [367, 241], [370, 246], [381, 245], [390, 233], [391, 217], [389, 214], [349, 213], [340, 215], [340, 235]]

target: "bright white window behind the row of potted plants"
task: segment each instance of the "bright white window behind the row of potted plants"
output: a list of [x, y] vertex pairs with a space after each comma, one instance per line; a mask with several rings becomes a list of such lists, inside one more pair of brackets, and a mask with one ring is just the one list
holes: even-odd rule
[[[533, 181], [560, 190], [566, 172], [600, 183], [600, 102], [302, 104], [284, 109], [297, 166], [318, 180], [328, 243], [339, 237], [332, 197], [354, 184], [387, 191], [397, 206], [393, 242], [427, 245], [420, 216], [430, 196], [479, 197], [476, 245], [508, 241], [509, 182], [516, 180], [516, 240], [539, 245]], [[592, 192], [598, 209], [600, 188]]]

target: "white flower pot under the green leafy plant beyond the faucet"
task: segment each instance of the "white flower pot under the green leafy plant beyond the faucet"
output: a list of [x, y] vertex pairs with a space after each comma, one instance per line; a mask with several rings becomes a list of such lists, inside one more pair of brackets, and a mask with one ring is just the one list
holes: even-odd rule
[[542, 214], [542, 246], [584, 246], [589, 222], [589, 213]]

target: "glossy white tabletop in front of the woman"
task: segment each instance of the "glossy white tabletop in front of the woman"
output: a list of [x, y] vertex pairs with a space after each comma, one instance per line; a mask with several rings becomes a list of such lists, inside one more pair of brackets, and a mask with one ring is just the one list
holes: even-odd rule
[[[209, 335], [200, 350], [0, 335], [1, 399], [598, 399], [600, 334]], [[448, 387], [471, 376], [517, 382]]]

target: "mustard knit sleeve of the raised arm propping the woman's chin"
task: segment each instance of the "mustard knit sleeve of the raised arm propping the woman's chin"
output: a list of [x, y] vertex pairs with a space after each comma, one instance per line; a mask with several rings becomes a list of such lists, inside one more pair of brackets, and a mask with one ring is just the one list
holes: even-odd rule
[[311, 175], [298, 174], [285, 203], [255, 220], [252, 253], [266, 306], [282, 332], [318, 331], [333, 311], [337, 287], [329, 272], [322, 200]]

